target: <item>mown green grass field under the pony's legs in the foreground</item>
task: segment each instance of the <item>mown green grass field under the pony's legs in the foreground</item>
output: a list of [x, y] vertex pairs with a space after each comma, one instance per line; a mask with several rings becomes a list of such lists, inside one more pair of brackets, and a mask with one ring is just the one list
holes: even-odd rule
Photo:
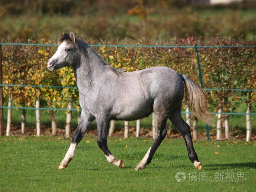
[[[135, 171], [151, 143], [145, 138], [110, 138], [109, 149], [124, 161], [122, 169], [106, 161], [96, 138], [85, 137], [69, 166], [58, 170], [70, 140], [0, 137], [0, 191], [255, 190], [255, 141], [196, 141], [203, 164], [202, 170], [196, 170], [184, 140], [165, 139], [150, 165]], [[185, 173], [184, 182], [176, 181], [177, 172]]]

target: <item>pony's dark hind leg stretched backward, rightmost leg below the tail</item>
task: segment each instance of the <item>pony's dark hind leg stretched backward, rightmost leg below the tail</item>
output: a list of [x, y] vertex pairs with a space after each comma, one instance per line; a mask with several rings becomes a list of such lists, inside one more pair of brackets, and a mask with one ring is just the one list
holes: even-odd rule
[[181, 136], [184, 138], [187, 150], [188, 150], [188, 157], [196, 169], [200, 170], [202, 168], [202, 163], [198, 161], [197, 154], [193, 147], [190, 127], [185, 121], [182, 119], [180, 115], [180, 111], [173, 113], [172, 116], [169, 117], [172, 124], [178, 129], [181, 133]]

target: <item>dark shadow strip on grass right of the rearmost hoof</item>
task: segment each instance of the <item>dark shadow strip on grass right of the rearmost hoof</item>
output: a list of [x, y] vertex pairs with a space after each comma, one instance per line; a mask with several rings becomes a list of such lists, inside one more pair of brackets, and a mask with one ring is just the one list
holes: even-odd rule
[[208, 169], [211, 169], [211, 170], [235, 169], [235, 168], [241, 168], [241, 167], [250, 167], [250, 168], [256, 169], [256, 163], [248, 162], [248, 163], [208, 164], [208, 165], [203, 165], [203, 167], [207, 167]]

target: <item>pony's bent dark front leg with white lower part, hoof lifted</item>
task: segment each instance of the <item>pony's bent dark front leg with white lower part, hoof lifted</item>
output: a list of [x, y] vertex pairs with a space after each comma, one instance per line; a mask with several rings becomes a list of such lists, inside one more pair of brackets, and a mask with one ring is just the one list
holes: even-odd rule
[[[104, 118], [101, 118], [104, 119]], [[103, 120], [97, 120], [97, 127], [98, 127], [98, 136], [97, 136], [97, 143], [99, 148], [103, 151], [105, 154], [106, 159], [109, 163], [112, 163], [113, 165], [116, 165], [117, 167], [124, 168], [124, 162], [121, 159], [116, 159], [114, 155], [109, 151], [107, 143], [107, 137], [109, 132], [109, 120], [103, 121]]]

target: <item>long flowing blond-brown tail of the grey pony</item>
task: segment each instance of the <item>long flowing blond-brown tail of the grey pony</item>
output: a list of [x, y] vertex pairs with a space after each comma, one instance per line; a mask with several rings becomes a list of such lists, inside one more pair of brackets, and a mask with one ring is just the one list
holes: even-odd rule
[[213, 125], [214, 120], [208, 110], [206, 92], [186, 75], [182, 75], [182, 80], [185, 84], [185, 103], [197, 118], [209, 125]]

